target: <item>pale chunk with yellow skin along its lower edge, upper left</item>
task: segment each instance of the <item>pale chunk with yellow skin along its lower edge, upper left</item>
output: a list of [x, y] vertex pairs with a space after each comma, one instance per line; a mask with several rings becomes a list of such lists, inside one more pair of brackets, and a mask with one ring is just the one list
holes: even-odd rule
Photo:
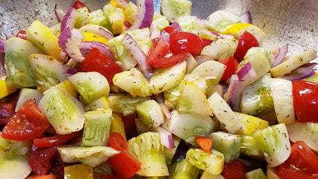
[[53, 56], [58, 61], [61, 61], [62, 48], [59, 47], [57, 41], [59, 39], [55, 34], [41, 23], [39, 20], [35, 20], [26, 30], [26, 39], [32, 44], [35, 44], [46, 55]]

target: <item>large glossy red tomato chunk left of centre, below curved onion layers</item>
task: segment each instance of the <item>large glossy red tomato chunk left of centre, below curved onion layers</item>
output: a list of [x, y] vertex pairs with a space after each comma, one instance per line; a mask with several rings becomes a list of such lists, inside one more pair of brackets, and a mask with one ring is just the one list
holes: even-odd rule
[[79, 64], [80, 72], [96, 71], [106, 77], [109, 84], [113, 84], [113, 76], [122, 72], [122, 68], [116, 64], [113, 59], [97, 48], [93, 48], [85, 57], [83, 62]]

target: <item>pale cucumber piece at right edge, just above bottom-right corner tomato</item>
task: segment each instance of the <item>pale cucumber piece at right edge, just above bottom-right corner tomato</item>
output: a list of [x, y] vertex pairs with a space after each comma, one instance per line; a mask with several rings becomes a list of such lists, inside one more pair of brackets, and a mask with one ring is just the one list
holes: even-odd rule
[[293, 122], [287, 125], [287, 131], [292, 142], [303, 141], [310, 149], [318, 152], [318, 123]]

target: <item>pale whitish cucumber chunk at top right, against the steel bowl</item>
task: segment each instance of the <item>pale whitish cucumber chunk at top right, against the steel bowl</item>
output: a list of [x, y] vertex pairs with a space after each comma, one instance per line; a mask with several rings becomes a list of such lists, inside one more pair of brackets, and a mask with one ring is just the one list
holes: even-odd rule
[[205, 27], [215, 32], [222, 32], [227, 26], [238, 23], [241, 17], [227, 10], [218, 10], [207, 17]]

